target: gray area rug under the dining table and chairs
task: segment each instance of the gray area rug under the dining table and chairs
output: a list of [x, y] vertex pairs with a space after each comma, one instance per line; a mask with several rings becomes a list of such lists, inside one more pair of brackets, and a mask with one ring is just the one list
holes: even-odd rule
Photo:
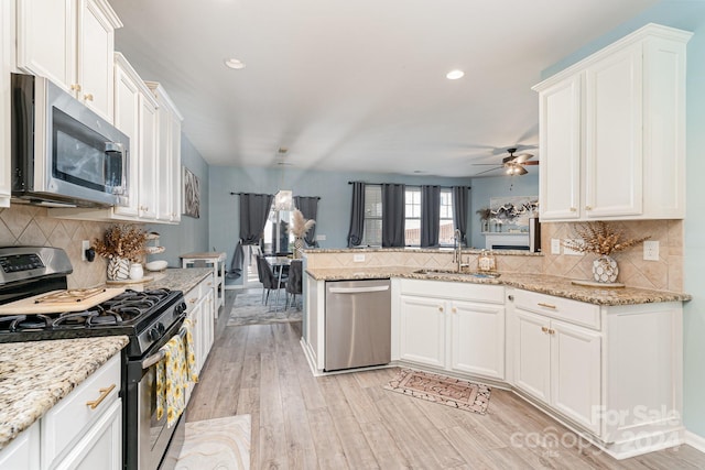
[[301, 296], [296, 305], [284, 309], [286, 293], [279, 293], [279, 303], [274, 304], [276, 292], [269, 295], [269, 305], [262, 304], [261, 289], [248, 289], [235, 296], [235, 303], [228, 317], [228, 326], [276, 324], [285, 321], [301, 321]]

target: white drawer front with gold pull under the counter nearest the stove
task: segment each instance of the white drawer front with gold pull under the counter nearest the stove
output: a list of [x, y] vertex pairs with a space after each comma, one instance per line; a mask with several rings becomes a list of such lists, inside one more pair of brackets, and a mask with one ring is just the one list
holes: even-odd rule
[[[54, 459], [69, 450], [85, 429], [120, 400], [120, 356], [115, 354], [42, 418], [42, 468], [53, 467]], [[95, 408], [89, 405], [104, 394]]]

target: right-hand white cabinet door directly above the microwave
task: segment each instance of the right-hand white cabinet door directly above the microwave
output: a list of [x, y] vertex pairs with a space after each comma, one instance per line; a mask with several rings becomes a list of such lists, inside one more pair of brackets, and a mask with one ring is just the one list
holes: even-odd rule
[[112, 122], [115, 30], [95, 0], [79, 0], [76, 70], [77, 98]]

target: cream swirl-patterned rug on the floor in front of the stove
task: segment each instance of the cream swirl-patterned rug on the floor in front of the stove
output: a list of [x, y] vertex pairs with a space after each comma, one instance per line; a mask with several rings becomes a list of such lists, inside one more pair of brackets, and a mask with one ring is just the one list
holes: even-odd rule
[[250, 415], [186, 423], [176, 470], [250, 468]]

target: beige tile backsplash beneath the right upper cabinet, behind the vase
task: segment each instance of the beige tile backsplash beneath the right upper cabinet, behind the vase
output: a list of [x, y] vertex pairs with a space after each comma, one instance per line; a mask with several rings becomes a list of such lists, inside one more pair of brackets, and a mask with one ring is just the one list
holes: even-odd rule
[[[649, 236], [659, 241], [659, 261], [643, 260], [643, 244], [616, 253], [619, 265], [617, 281], [630, 287], [683, 291], [683, 220], [630, 220], [609, 222], [628, 238]], [[543, 273], [571, 278], [593, 277], [593, 253], [551, 254], [551, 239], [575, 239], [578, 223], [542, 223], [541, 251]], [[563, 248], [561, 248], [563, 253]]]

